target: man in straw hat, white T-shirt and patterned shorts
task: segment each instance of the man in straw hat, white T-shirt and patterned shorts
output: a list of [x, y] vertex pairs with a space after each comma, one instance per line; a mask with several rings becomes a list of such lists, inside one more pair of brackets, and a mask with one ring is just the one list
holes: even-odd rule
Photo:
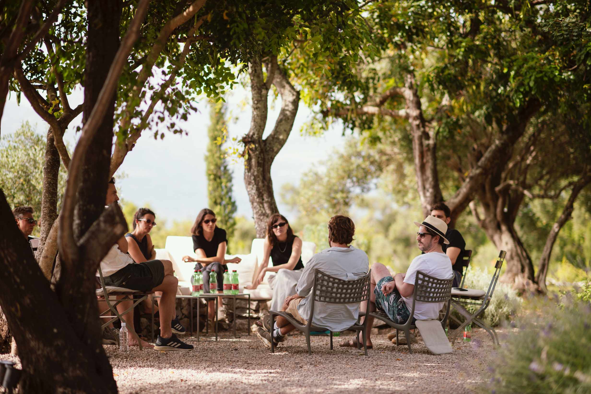
[[[372, 296], [370, 308], [375, 306], [384, 311], [388, 317], [404, 324], [410, 317], [413, 308], [414, 284], [417, 271], [434, 276], [438, 279], [450, 279], [453, 276], [452, 261], [443, 253], [441, 245], [449, 244], [445, 238], [447, 224], [443, 220], [429, 215], [422, 223], [414, 222], [418, 226], [417, 246], [424, 253], [413, 259], [406, 273], [391, 276], [384, 264], [374, 263], [371, 266]], [[361, 303], [362, 309], [365, 307]], [[437, 319], [444, 302], [415, 302], [413, 321]], [[368, 318], [371, 327], [374, 318]], [[367, 332], [368, 348], [372, 346], [371, 331]], [[355, 341], [350, 341], [355, 345]]]

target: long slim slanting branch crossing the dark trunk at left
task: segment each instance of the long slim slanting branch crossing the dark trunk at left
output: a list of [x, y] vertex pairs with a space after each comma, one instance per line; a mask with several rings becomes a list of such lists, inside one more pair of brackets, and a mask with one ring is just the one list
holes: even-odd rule
[[125, 33], [125, 37], [121, 41], [121, 46], [119, 46], [119, 49], [117, 50], [115, 59], [111, 64], [109, 73], [103, 84], [103, 88], [100, 89], [95, 107], [92, 109], [90, 117], [82, 128], [82, 135], [80, 135], [76, 149], [74, 149], [72, 163], [70, 163], [70, 176], [66, 183], [66, 191], [64, 192], [63, 205], [61, 207], [59, 218], [60, 229], [57, 239], [61, 257], [63, 257], [63, 260], [66, 261], [67, 264], [71, 264], [78, 256], [78, 248], [74, 238], [73, 222], [74, 207], [76, 206], [76, 193], [82, 177], [82, 161], [86, 156], [86, 151], [90, 147], [92, 138], [96, 134], [96, 131], [105, 116], [109, 101], [111, 101], [111, 97], [113, 93], [115, 93], [116, 84], [121, 75], [121, 70], [127, 61], [127, 57], [129, 56], [129, 51], [131, 51], [135, 41], [139, 37], [139, 28], [141, 27], [142, 21], [144, 21], [149, 3], [150, 0], [139, 1], [134, 19], [131, 21], [128, 31]]

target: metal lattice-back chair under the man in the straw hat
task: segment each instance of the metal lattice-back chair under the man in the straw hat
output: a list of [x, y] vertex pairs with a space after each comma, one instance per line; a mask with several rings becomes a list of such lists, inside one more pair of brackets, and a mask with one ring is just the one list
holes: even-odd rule
[[[411, 348], [410, 330], [415, 330], [417, 326], [413, 324], [414, 309], [417, 301], [419, 302], [447, 302], [446, 313], [443, 319], [440, 320], [441, 328], [443, 329], [447, 322], [450, 308], [450, 296], [452, 294], [453, 276], [449, 279], [439, 279], [434, 276], [429, 276], [424, 272], [417, 271], [417, 277], [414, 282], [413, 292], [413, 307], [410, 310], [410, 316], [404, 324], [398, 324], [392, 321], [383, 311], [369, 312], [369, 316], [388, 324], [390, 327], [396, 329], [396, 343], [398, 344], [398, 330], [404, 331], [407, 338], [408, 351], [413, 354]], [[366, 309], [369, 310], [369, 309]], [[365, 319], [367, 321], [367, 319]]]

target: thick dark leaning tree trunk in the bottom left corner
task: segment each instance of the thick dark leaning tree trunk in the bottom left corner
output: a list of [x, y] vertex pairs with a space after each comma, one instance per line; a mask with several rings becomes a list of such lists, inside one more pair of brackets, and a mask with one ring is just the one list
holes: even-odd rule
[[[0, 193], [0, 306], [18, 344], [24, 393], [116, 393], [102, 347], [90, 347], [41, 273]], [[98, 327], [98, 311], [93, 309]], [[99, 343], [98, 328], [95, 341]]]

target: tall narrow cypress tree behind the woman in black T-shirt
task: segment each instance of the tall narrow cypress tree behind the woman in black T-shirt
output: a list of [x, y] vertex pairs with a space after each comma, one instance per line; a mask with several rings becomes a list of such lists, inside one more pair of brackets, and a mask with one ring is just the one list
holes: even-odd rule
[[[206, 176], [207, 200], [209, 208], [216, 213], [219, 227], [226, 230], [231, 240], [236, 227], [236, 201], [232, 197], [232, 171], [228, 168], [222, 144], [228, 138], [225, 107], [219, 103], [212, 105], [211, 123], [207, 129]], [[228, 246], [229, 250], [229, 246]]]

